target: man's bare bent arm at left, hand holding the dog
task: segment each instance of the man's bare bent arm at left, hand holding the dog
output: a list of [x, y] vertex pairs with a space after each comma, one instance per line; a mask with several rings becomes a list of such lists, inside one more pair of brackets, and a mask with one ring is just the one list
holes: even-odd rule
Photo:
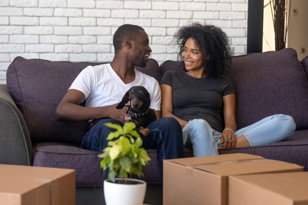
[[127, 107], [116, 109], [115, 107], [117, 104], [114, 104], [110, 106], [87, 108], [79, 105], [84, 99], [85, 95], [81, 91], [70, 89], [56, 108], [56, 119], [59, 121], [75, 122], [109, 117], [124, 123], [124, 118], [127, 115]]

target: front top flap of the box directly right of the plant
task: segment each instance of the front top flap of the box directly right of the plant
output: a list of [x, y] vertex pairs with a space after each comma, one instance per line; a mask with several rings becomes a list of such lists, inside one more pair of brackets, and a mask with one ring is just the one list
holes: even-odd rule
[[222, 176], [303, 170], [303, 167], [297, 164], [278, 160], [267, 160], [264, 158], [259, 160], [238, 160], [228, 163], [215, 163], [196, 166], [194, 168]]

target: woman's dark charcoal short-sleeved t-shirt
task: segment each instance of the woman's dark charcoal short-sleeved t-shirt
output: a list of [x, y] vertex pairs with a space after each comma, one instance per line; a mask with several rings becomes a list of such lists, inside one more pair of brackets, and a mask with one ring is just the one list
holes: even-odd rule
[[184, 70], [168, 71], [160, 84], [172, 87], [173, 115], [186, 121], [203, 119], [222, 132], [222, 97], [235, 93], [229, 77], [195, 78]]

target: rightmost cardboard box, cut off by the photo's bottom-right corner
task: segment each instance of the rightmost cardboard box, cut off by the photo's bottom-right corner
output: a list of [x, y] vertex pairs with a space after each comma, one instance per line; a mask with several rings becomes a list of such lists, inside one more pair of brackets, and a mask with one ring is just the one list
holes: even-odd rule
[[229, 205], [304, 205], [307, 193], [308, 172], [229, 178]]

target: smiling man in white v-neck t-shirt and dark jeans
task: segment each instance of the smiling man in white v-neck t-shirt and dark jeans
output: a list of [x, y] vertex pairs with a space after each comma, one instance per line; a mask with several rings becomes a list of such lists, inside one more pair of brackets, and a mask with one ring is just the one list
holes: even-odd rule
[[[110, 64], [88, 66], [72, 83], [67, 94], [56, 109], [56, 119], [60, 121], [81, 121], [100, 119], [84, 136], [81, 148], [102, 152], [107, 147], [106, 140], [113, 129], [103, 124], [124, 123], [128, 107], [116, 109], [124, 94], [132, 86], [144, 86], [151, 96], [150, 108], [155, 109], [156, 121], [146, 128], [151, 133], [144, 137], [143, 147], [157, 149], [160, 173], [163, 173], [163, 159], [184, 157], [182, 129], [174, 118], [161, 118], [160, 87], [158, 82], [134, 66], [145, 67], [150, 53], [148, 35], [143, 28], [125, 24], [114, 36], [115, 56]], [[86, 101], [86, 107], [79, 104]], [[107, 118], [107, 119], [106, 119]]]

